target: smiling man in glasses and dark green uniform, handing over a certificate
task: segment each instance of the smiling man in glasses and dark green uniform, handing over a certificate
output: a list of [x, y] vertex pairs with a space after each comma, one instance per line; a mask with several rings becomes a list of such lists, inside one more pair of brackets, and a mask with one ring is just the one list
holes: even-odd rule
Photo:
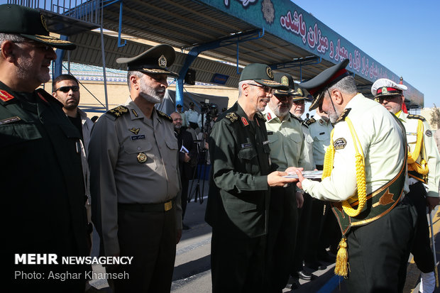
[[270, 163], [265, 118], [260, 111], [274, 89], [268, 65], [241, 72], [238, 101], [221, 114], [209, 138], [211, 176], [206, 221], [212, 226], [212, 291], [265, 292], [266, 234], [270, 187], [296, 179]]

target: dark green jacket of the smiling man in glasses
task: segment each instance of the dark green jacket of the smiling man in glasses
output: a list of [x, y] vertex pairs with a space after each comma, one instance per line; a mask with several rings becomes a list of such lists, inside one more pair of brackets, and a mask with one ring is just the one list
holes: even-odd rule
[[241, 106], [234, 104], [214, 123], [209, 151], [207, 223], [233, 237], [265, 235], [271, 172], [265, 118], [258, 112], [248, 121]]

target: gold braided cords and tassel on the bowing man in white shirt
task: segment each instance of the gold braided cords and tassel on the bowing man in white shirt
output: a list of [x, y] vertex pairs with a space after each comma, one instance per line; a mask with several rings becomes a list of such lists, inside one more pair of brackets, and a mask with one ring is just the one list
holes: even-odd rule
[[[367, 192], [366, 192], [366, 182], [365, 182], [365, 158], [363, 155], [363, 150], [361, 148], [361, 142], [356, 134], [356, 131], [353, 128], [353, 123], [351, 123], [350, 118], [346, 117], [348, 128], [350, 128], [351, 137], [353, 138], [353, 145], [356, 150], [356, 185], [358, 187], [358, 209], [353, 209], [351, 204], [344, 200], [342, 201], [343, 211], [346, 212], [348, 216], [358, 216], [361, 214], [366, 202], [367, 202]], [[326, 150], [326, 154], [324, 156], [324, 170], [322, 172], [322, 179], [329, 177], [331, 175], [331, 170], [333, 169], [334, 162], [334, 145], [333, 145], [333, 133], [334, 130], [331, 131], [330, 135], [330, 145]], [[357, 141], [357, 143], [356, 143]], [[358, 150], [361, 149], [361, 152]], [[346, 237], [343, 236], [341, 242], [338, 246], [338, 253], [336, 255], [336, 265], [334, 268], [334, 272], [336, 275], [340, 275], [342, 277], [347, 277], [348, 275], [348, 253], [347, 253], [347, 243]]]

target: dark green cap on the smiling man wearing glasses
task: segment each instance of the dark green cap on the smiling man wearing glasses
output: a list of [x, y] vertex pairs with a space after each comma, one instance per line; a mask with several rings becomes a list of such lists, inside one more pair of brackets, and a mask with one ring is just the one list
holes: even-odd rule
[[240, 75], [240, 82], [243, 80], [253, 80], [258, 84], [263, 84], [273, 89], [284, 89], [287, 91], [289, 87], [275, 82], [273, 80], [273, 72], [268, 65], [260, 63], [251, 63], [243, 68]]

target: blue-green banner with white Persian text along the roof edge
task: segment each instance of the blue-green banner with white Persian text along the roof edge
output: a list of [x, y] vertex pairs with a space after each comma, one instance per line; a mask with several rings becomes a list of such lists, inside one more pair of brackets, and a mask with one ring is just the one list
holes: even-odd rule
[[[341, 62], [348, 58], [347, 69], [375, 82], [379, 78], [399, 83], [400, 77], [375, 61], [324, 23], [290, 0], [198, 0], [240, 18], [267, 33], [276, 35], [325, 60]], [[335, 6], [337, 10], [337, 6]], [[423, 106], [424, 95], [407, 82], [405, 97]]]

